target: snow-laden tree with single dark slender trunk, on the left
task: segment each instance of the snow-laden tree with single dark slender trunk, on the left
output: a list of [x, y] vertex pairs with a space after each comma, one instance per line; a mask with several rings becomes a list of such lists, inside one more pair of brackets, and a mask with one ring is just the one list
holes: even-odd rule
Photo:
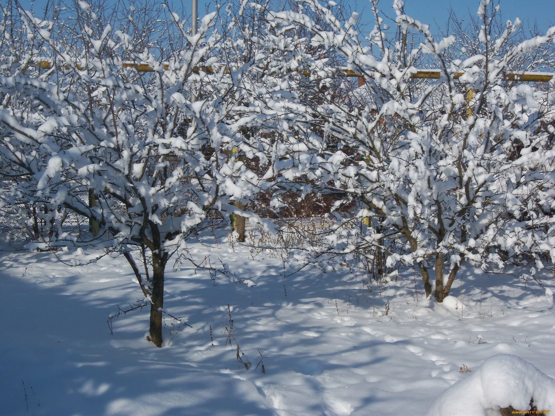
[[[212, 13], [190, 35], [186, 22], [168, 12], [182, 48], [162, 43], [160, 51], [160, 45], [149, 49], [140, 31], [135, 39], [131, 30], [99, 22], [89, 4], [79, 7], [72, 14], [84, 22], [79, 30], [67, 19], [21, 10], [8, 16], [4, 9], [2, 203], [12, 210], [40, 207], [34, 214], [52, 226], [41, 236], [50, 247], [96, 245], [124, 255], [151, 306], [150, 339], [161, 346], [170, 257], [186, 253], [188, 238], [211, 210], [257, 219], [233, 202], [247, 204], [264, 189], [245, 161], [264, 166], [274, 159], [264, 131], [280, 129], [287, 94], [275, 72], [280, 55], [264, 52], [266, 43], [278, 42], [251, 42], [259, 50], [245, 62], [231, 48], [244, 42], [245, 31], [223, 35], [227, 28], [217, 29]], [[24, 37], [11, 35], [14, 22]], [[70, 26], [78, 37], [71, 44], [63, 32]], [[135, 42], [145, 49], [137, 52]], [[151, 71], [140, 73], [134, 63]], [[67, 212], [90, 219], [92, 234], [63, 232]], [[150, 257], [145, 275], [130, 252], [135, 248]]]

